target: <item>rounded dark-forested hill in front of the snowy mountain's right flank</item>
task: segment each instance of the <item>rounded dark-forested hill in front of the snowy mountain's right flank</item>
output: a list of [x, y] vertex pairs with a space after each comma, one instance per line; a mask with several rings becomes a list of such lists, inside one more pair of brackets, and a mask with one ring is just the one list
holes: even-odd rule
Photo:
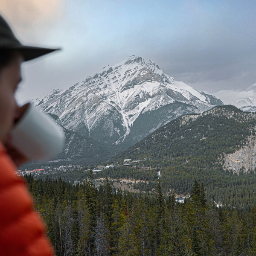
[[[152, 166], [167, 167], [183, 160], [200, 159], [203, 165], [221, 160], [255, 135], [256, 114], [232, 105], [215, 107], [203, 114], [177, 118], [144, 140], [121, 152], [113, 160], [154, 160]], [[186, 162], [186, 161], [184, 161]], [[202, 166], [201, 166], [202, 167]]]

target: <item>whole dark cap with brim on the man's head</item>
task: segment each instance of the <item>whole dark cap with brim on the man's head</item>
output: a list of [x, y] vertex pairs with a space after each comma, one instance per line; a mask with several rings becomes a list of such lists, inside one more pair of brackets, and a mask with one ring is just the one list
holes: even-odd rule
[[24, 61], [29, 61], [44, 54], [58, 50], [21, 44], [20, 41], [15, 38], [15, 35], [13, 34], [8, 23], [0, 15], [0, 50], [4, 49], [20, 50], [20, 52], [23, 54]]

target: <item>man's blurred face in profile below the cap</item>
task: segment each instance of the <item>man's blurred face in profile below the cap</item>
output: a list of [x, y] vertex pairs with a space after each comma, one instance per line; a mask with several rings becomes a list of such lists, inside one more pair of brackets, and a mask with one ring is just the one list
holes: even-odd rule
[[20, 64], [22, 56], [15, 52], [8, 65], [0, 70], [0, 141], [6, 142], [15, 118], [17, 118], [17, 103], [15, 91], [21, 81]]

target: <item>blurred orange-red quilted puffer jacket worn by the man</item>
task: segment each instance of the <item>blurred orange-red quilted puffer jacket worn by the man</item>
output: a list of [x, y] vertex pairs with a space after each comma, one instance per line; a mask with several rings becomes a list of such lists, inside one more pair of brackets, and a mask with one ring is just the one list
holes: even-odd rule
[[0, 143], [0, 256], [52, 256], [44, 224], [16, 166]]

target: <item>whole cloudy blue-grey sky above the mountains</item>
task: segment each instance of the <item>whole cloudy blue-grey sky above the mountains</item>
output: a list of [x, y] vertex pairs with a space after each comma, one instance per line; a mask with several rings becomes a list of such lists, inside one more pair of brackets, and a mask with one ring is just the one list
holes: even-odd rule
[[256, 1], [1, 0], [23, 44], [61, 48], [22, 64], [20, 104], [131, 55], [225, 104], [256, 99]]

